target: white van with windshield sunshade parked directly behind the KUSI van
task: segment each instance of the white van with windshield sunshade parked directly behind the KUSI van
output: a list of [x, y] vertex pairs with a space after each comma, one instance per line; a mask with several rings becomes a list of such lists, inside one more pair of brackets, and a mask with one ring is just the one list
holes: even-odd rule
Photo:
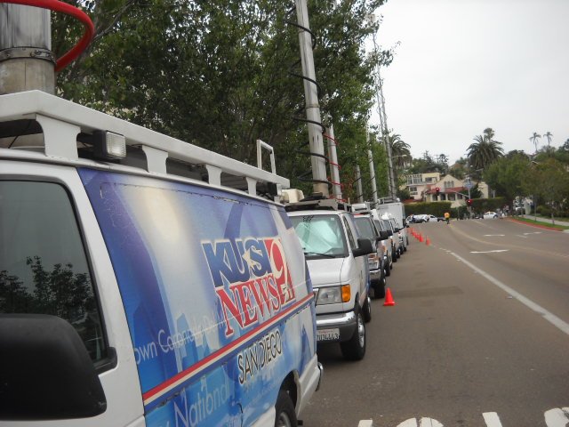
[[286, 210], [317, 294], [317, 342], [339, 342], [345, 359], [364, 359], [365, 322], [372, 318], [372, 242], [359, 236], [354, 215], [335, 200], [299, 202]]

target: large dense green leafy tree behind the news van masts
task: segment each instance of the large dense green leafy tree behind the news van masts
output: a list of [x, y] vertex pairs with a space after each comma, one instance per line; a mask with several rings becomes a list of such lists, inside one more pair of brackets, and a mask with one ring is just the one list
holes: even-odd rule
[[[79, 3], [79, 2], [76, 2]], [[332, 117], [346, 165], [364, 145], [373, 106], [373, 69], [390, 52], [365, 53], [383, 0], [309, 4], [322, 117]], [[276, 149], [278, 173], [304, 186], [310, 170], [294, 5], [277, 0], [109, 0], [81, 2], [95, 19], [89, 51], [58, 76], [69, 100], [128, 119], [247, 163], [255, 140]], [[54, 45], [79, 29], [55, 23]]]

